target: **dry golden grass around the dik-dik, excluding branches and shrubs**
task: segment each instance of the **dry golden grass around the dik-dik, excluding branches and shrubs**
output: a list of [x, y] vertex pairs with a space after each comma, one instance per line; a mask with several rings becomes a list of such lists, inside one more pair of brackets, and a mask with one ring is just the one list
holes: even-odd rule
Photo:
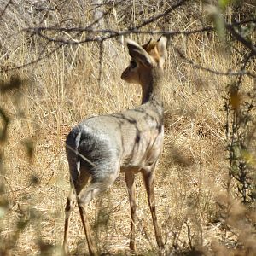
[[[73, 2], [73, 8], [77, 8], [76, 4], [79, 1]], [[133, 21], [138, 22], [137, 7], [132, 4], [130, 7]], [[164, 6], [155, 12], [160, 12], [160, 8], [164, 9]], [[202, 10], [199, 3], [197, 9]], [[145, 15], [149, 14], [150, 8], [148, 13], [145, 12]], [[7, 30], [10, 33], [16, 32], [16, 24], [20, 27], [31, 24], [31, 16], [26, 16], [28, 21], [23, 20], [22, 23], [22, 15], [9, 22]], [[113, 27], [123, 26], [125, 20], [119, 21], [119, 13], [116, 15], [112, 20]], [[55, 10], [44, 22], [53, 24], [58, 17]], [[193, 28], [197, 22], [194, 18], [189, 20], [182, 9], [172, 14], [170, 20], [176, 22], [172, 26], [167, 23], [165, 29]], [[73, 19], [88, 22], [90, 15], [77, 15]], [[136, 39], [143, 43], [148, 37]], [[24, 33], [16, 35], [15, 40], [6, 39], [1, 46], [2, 54], [5, 49], [9, 56], [2, 65], [15, 67], [37, 58], [42, 42], [37, 38], [34, 40], [33, 43], [29, 41]], [[238, 224], [234, 226], [236, 218], [244, 224], [239, 216], [246, 210], [238, 203], [236, 209], [241, 210], [230, 215], [233, 222], [230, 225], [237, 232], [224, 229], [229, 163], [224, 149], [223, 96], [232, 78], [191, 67], [177, 56], [173, 46], [183, 49], [189, 59], [212, 69], [225, 71], [236, 67], [239, 61], [234, 52], [218, 51], [220, 44], [217, 38], [203, 35], [176, 37], [168, 46], [163, 89], [165, 148], [155, 183], [157, 214], [166, 254], [191, 253], [194, 250], [195, 255], [199, 252], [231, 255], [231, 248], [238, 248], [236, 253], [244, 253], [244, 247], [256, 250], [251, 230], [241, 229]], [[52, 47], [53, 44], [49, 44], [47, 50]], [[112, 47], [117, 55], [110, 54]], [[44, 61], [11, 73], [19, 75], [26, 83], [22, 90], [0, 95], [0, 107], [11, 118], [8, 141], [0, 145], [4, 160], [1, 178], [5, 184], [1, 196], [9, 201], [8, 211], [0, 219], [0, 236], [3, 238], [0, 247], [7, 247], [8, 242], [3, 244], [3, 241], [11, 241], [19, 233], [17, 223], [30, 221], [24, 229], [21, 228], [9, 255], [36, 255], [40, 250], [46, 252], [50, 246], [53, 248], [49, 255], [61, 254], [64, 206], [69, 190], [65, 137], [71, 127], [85, 117], [119, 112], [140, 103], [141, 92], [137, 85], [125, 84], [119, 78], [128, 61], [127, 50], [115, 41], [109, 41], [102, 60], [101, 84], [98, 84], [99, 49], [96, 44], [65, 46]], [[9, 77], [10, 74], [2, 73], [3, 80], [9, 80]], [[253, 81], [246, 79], [244, 84], [248, 88], [253, 86]], [[31, 142], [34, 154], [30, 159], [26, 145]], [[234, 206], [234, 202], [230, 204]], [[143, 180], [139, 175], [137, 205], [137, 253], [155, 255], [154, 230]], [[89, 211], [101, 251], [111, 255], [130, 255], [130, 207], [122, 175], [107, 193], [90, 204]], [[255, 221], [255, 216], [253, 218]], [[248, 229], [252, 228], [247, 225]], [[239, 247], [246, 243], [247, 246]], [[73, 212], [69, 249], [75, 255], [87, 252], [77, 210]]]

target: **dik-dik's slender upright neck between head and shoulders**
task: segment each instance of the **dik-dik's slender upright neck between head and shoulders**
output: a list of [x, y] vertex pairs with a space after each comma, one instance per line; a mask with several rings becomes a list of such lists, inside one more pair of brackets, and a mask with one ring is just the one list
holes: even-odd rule
[[142, 104], [150, 102], [155, 106], [162, 108], [162, 85], [163, 85], [163, 71], [160, 68], [154, 68], [152, 73], [144, 78], [142, 89], [143, 89], [143, 100]]

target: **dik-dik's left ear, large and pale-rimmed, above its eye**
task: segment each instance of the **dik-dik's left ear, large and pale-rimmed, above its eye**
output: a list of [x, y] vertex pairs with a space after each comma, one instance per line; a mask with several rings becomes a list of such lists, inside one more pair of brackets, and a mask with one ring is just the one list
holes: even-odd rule
[[126, 39], [126, 44], [129, 49], [129, 55], [136, 61], [141, 62], [146, 67], [152, 67], [154, 64], [153, 59], [148, 55], [147, 51], [136, 42]]

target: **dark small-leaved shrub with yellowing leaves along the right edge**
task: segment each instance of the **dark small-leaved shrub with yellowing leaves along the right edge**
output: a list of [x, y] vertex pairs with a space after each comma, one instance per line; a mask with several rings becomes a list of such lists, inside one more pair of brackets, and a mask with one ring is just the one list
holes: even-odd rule
[[[241, 71], [252, 65], [252, 53], [244, 56]], [[227, 183], [230, 192], [230, 183], [234, 178], [237, 186], [237, 197], [243, 203], [251, 204], [256, 201], [255, 141], [256, 122], [256, 88], [245, 95], [243, 88], [243, 74], [239, 74], [234, 82], [228, 86], [228, 97], [225, 98], [224, 111], [226, 113], [226, 140], [229, 153], [230, 179]]]

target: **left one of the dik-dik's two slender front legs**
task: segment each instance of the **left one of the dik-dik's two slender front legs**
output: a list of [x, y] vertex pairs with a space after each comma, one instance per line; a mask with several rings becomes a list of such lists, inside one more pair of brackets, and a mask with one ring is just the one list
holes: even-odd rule
[[135, 183], [134, 174], [132, 172], [125, 172], [125, 182], [129, 194], [129, 201], [131, 207], [131, 237], [130, 237], [130, 249], [136, 250], [135, 246], [135, 218], [136, 218], [136, 201], [135, 201]]

